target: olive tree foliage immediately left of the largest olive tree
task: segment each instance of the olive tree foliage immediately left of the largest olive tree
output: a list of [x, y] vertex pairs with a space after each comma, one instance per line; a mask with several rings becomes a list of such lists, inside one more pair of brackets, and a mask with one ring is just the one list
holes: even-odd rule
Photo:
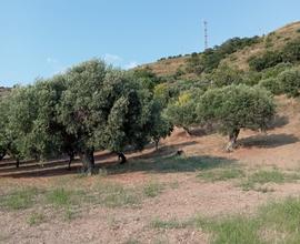
[[62, 141], [56, 106], [61, 92], [60, 83], [43, 80], [12, 91], [8, 115], [13, 139], [10, 151], [13, 148], [22, 157], [40, 161], [60, 154]]

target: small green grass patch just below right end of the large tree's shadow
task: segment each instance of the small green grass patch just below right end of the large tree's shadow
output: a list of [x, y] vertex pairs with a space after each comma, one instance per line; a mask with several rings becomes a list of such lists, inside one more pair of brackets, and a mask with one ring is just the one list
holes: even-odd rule
[[228, 181], [232, 179], [240, 179], [244, 176], [244, 172], [241, 169], [228, 167], [228, 169], [214, 169], [202, 171], [197, 175], [204, 181]]

